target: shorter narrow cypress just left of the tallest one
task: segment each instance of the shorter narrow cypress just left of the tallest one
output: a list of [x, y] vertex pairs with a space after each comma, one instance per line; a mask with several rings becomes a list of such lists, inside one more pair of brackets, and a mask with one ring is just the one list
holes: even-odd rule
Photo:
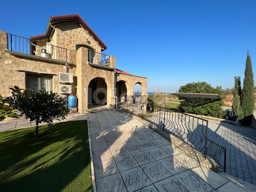
[[234, 118], [238, 118], [239, 120], [243, 119], [243, 113], [240, 105], [240, 93], [241, 93], [241, 80], [240, 77], [234, 77], [235, 86], [233, 91], [233, 103], [232, 103], [232, 115]]

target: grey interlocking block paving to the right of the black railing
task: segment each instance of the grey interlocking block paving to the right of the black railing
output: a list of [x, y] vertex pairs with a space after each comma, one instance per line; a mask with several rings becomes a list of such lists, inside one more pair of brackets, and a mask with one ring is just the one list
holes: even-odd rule
[[256, 185], [256, 130], [209, 120], [208, 138], [227, 149], [226, 173]]

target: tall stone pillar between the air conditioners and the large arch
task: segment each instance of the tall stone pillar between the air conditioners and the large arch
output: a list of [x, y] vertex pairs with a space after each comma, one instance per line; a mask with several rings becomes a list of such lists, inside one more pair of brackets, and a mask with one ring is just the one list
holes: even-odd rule
[[77, 95], [78, 112], [87, 113], [88, 111], [88, 82], [86, 79], [86, 68], [88, 60], [88, 49], [80, 47], [76, 51], [76, 76], [77, 76]]

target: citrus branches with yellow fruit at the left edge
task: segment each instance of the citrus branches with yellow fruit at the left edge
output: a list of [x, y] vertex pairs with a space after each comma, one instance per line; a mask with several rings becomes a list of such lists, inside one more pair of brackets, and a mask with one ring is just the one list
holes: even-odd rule
[[12, 117], [12, 118], [19, 118], [20, 116], [15, 113], [15, 109], [11, 109], [9, 105], [6, 105], [9, 100], [4, 99], [2, 95], [0, 94], [0, 121], [3, 121], [6, 116], [7, 117]]

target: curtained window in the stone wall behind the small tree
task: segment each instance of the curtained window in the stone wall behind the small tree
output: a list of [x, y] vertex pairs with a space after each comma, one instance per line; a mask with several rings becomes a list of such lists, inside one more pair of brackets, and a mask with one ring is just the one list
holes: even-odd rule
[[46, 91], [52, 90], [52, 76], [42, 76], [27, 74], [26, 75], [26, 88], [33, 89], [36, 91], [45, 88]]

